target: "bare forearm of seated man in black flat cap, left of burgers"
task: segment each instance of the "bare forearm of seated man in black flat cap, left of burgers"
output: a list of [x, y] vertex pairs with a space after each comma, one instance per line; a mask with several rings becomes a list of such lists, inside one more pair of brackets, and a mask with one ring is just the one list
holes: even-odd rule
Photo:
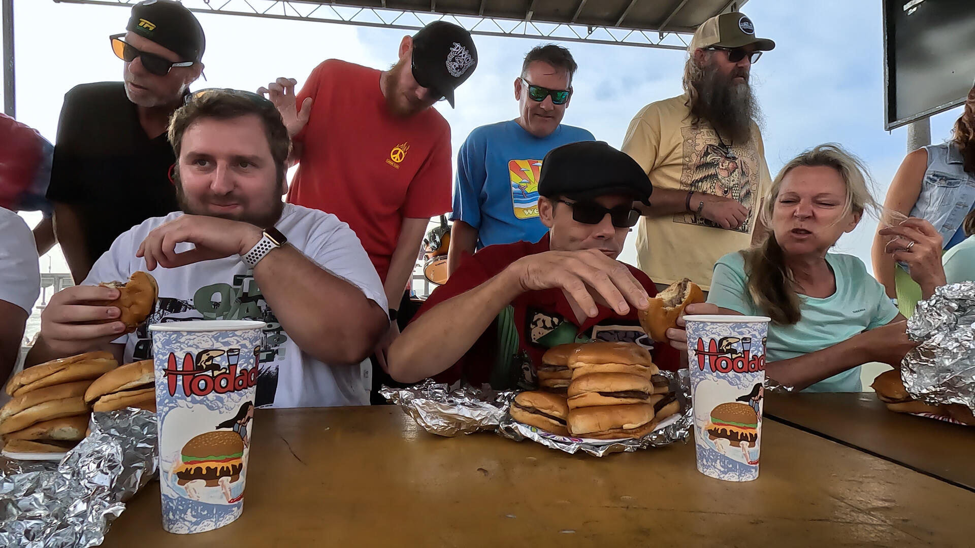
[[[521, 293], [521, 284], [508, 268], [473, 290], [434, 306], [413, 320], [389, 347], [389, 374], [400, 382], [417, 382], [447, 370]], [[430, 352], [431, 348], [437, 351]]]

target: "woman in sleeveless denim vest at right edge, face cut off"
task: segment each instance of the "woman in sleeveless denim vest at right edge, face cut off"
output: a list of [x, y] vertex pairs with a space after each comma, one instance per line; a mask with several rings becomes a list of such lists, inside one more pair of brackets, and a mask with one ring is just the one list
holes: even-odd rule
[[911, 279], [907, 263], [892, 258], [891, 237], [880, 231], [912, 216], [934, 226], [943, 251], [965, 239], [962, 221], [975, 207], [975, 87], [968, 92], [952, 139], [908, 154], [890, 182], [883, 207], [888, 218], [879, 223], [874, 239], [874, 275], [887, 295], [897, 298], [901, 313], [910, 317], [921, 297], [920, 287]]

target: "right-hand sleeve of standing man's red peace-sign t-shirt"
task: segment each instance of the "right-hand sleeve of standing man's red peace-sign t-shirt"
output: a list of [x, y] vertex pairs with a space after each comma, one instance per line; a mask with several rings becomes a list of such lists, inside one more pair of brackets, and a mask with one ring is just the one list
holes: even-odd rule
[[444, 215], [450, 211], [453, 169], [450, 164], [450, 126], [440, 114], [436, 116], [443, 129], [416, 176], [409, 181], [407, 198], [402, 209], [405, 217], [426, 218]]

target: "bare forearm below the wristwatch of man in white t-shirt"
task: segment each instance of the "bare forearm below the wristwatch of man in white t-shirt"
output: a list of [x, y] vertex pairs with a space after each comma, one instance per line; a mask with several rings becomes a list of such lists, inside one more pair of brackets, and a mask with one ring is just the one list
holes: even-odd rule
[[387, 312], [351, 283], [292, 246], [254, 267], [264, 300], [302, 351], [325, 363], [356, 363], [389, 327]]

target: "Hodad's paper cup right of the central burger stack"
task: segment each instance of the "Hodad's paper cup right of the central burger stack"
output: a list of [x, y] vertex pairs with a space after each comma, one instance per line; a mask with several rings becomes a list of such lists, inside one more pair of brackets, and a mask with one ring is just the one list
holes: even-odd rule
[[764, 316], [684, 316], [697, 469], [729, 482], [759, 477]]

